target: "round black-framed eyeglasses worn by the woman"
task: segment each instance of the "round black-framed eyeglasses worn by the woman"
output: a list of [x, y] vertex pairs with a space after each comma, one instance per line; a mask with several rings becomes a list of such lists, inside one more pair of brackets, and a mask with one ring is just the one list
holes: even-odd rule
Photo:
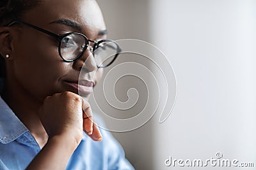
[[44, 32], [49, 36], [56, 38], [59, 41], [58, 51], [61, 59], [65, 62], [73, 62], [81, 57], [84, 51], [88, 48], [89, 43], [94, 43], [92, 48], [93, 57], [97, 67], [108, 67], [112, 64], [118, 54], [122, 52], [120, 46], [111, 39], [102, 39], [100, 41], [92, 41], [84, 34], [78, 32], [68, 32], [66, 34], [54, 34], [35, 25], [28, 24], [19, 20], [15, 20], [8, 24], [10, 27], [13, 24], [24, 24], [28, 27]]

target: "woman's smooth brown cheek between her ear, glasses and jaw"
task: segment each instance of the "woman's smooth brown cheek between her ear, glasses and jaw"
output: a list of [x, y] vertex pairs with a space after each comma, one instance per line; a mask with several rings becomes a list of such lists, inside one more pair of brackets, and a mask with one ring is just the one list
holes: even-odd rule
[[[70, 66], [58, 55], [58, 47], [40, 43], [24, 42], [15, 50], [13, 68], [18, 83], [36, 98], [59, 92], [60, 78], [68, 73]], [[46, 45], [45, 45], [46, 44]]]

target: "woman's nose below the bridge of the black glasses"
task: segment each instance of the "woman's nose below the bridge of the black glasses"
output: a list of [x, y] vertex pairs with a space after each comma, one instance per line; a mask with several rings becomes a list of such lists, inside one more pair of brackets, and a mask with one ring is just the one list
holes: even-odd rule
[[74, 61], [73, 67], [78, 71], [84, 71], [86, 73], [90, 73], [95, 71], [98, 67], [93, 57], [93, 48], [92, 46], [88, 46], [86, 50], [84, 50], [83, 55]]

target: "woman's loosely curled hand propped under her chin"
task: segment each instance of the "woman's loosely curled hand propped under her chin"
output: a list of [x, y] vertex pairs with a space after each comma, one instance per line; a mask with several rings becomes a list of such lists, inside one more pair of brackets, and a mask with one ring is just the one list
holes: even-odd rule
[[94, 141], [102, 140], [97, 125], [92, 122], [90, 104], [72, 92], [46, 97], [39, 116], [49, 139], [65, 134], [78, 146], [84, 130]]

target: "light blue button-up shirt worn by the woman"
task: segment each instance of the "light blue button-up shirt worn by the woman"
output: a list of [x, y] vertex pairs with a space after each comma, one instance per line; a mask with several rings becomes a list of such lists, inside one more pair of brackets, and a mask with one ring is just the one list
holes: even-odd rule
[[[134, 169], [111, 133], [100, 132], [100, 142], [84, 133], [67, 169]], [[25, 169], [40, 150], [35, 138], [0, 97], [0, 169]]]

